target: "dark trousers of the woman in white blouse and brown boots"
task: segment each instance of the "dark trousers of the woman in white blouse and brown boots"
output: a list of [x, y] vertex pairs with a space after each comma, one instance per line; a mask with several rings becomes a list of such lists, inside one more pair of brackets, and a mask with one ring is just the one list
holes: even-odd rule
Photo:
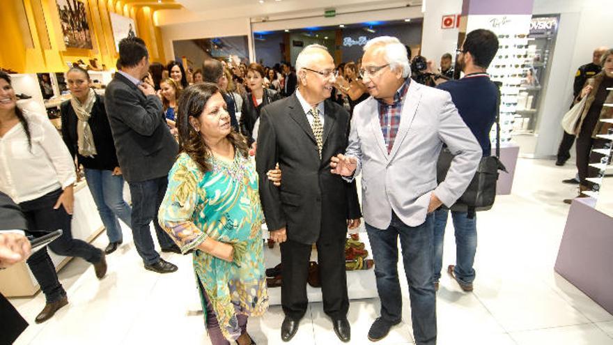
[[[63, 256], [78, 256], [89, 263], [98, 263], [102, 259], [102, 250], [82, 240], [72, 238], [70, 228], [72, 215], [66, 213], [63, 206], [54, 210], [53, 206], [55, 206], [61, 194], [62, 190], [60, 189], [20, 204], [28, 222], [29, 233], [35, 237], [40, 237], [46, 233], [62, 229], [62, 236], [48, 245], [54, 253]], [[33, 253], [27, 263], [34, 277], [36, 277], [36, 281], [40, 284], [42, 293], [45, 293], [47, 302], [54, 302], [66, 296], [66, 291], [58, 280], [47, 247]]]

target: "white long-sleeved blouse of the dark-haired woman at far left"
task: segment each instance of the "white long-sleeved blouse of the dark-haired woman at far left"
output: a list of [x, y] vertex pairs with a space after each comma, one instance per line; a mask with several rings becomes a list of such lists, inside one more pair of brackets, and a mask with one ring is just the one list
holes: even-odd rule
[[15, 203], [38, 199], [75, 183], [75, 163], [45, 115], [24, 111], [31, 148], [21, 123], [0, 137], [0, 191]]

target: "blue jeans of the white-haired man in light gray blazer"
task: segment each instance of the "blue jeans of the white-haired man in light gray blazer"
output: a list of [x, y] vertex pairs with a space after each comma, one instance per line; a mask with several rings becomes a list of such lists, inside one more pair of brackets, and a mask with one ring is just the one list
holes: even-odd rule
[[418, 345], [436, 344], [436, 294], [432, 281], [434, 216], [426, 216], [426, 222], [417, 227], [404, 224], [395, 213], [387, 229], [365, 225], [375, 259], [382, 319], [390, 323], [402, 319], [402, 293], [398, 281], [400, 237], [415, 342]]

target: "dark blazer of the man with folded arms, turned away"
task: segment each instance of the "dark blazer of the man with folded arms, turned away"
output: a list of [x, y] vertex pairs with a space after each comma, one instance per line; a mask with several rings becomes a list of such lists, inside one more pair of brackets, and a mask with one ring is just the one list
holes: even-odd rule
[[167, 176], [178, 144], [164, 120], [160, 98], [145, 96], [129, 79], [116, 73], [104, 93], [104, 105], [125, 181]]

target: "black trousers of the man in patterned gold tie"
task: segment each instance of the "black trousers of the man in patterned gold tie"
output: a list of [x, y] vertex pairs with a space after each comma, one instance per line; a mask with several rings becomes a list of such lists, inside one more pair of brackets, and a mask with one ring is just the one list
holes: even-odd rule
[[[322, 229], [322, 233], [326, 229]], [[323, 297], [323, 310], [327, 316], [345, 319], [349, 311], [347, 273], [345, 269], [346, 238], [317, 240], [317, 261]], [[281, 243], [281, 306], [286, 316], [300, 320], [307, 312], [307, 277], [311, 245], [287, 240]]]

